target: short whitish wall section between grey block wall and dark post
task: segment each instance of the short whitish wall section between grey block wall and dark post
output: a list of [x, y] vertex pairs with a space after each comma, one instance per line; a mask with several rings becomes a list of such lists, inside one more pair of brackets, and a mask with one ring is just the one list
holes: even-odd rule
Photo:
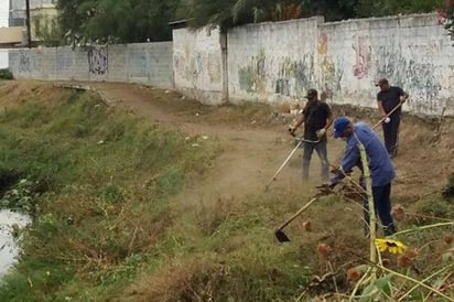
[[223, 41], [218, 30], [173, 31], [175, 88], [203, 103], [226, 100]]

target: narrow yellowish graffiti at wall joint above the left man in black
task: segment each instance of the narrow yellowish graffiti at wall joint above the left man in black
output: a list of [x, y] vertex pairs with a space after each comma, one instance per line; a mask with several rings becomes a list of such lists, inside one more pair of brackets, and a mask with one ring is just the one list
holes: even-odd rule
[[318, 37], [318, 55], [321, 57], [318, 65], [324, 90], [329, 93], [329, 95], [333, 95], [334, 91], [340, 91], [344, 71], [336, 68], [333, 57], [328, 55], [328, 37], [326, 33], [322, 33]]

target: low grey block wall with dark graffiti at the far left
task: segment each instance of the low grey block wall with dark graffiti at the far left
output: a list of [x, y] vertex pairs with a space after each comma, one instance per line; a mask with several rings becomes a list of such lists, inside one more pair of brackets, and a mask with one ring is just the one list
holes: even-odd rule
[[172, 88], [172, 42], [12, 50], [15, 78], [141, 83]]

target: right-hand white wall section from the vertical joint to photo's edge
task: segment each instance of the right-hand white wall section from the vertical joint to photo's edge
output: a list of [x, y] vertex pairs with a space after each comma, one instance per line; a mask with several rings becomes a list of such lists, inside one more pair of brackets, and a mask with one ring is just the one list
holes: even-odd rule
[[338, 104], [375, 106], [374, 84], [387, 77], [410, 94], [404, 110], [454, 115], [453, 47], [436, 14], [326, 23], [318, 51], [318, 87]]

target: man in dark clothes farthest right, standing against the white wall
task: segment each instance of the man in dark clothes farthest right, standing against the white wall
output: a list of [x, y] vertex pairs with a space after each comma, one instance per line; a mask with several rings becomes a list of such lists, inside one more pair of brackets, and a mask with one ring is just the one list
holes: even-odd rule
[[[381, 78], [376, 86], [380, 87], [380, 91], [377, 94], [378, 110], [386, 117], [383, 122], [383, 138], [385, 147], [388, 154], [393, 158], [398, 151], [399, 144], [399, 126], [401, 119], [401, 106], [407, 100], [409, 95], [397, 86], [390, 86], [388, 79]], [[397, 108], [392, 114], [390, 114]]]

